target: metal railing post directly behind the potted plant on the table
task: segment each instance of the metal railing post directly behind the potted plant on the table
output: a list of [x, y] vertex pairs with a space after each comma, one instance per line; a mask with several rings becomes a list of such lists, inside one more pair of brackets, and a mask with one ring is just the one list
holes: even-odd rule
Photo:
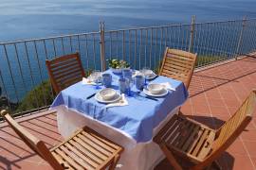
[[105, 62], [105, 24], [104, 22], [100, 22], [100, 34], [101, 34], [101, 71], [106, 70], [106, 62]]

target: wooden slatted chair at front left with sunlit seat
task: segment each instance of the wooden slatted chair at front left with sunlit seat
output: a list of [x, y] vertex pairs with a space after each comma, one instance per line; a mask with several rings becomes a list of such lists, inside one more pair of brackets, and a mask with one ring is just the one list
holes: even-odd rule
[[6, 110], [1, 115], [20, 138], [55, 170], [109, 169], [114, 170], [123, 148], [89, 127], [83, 127], [63, 143], [48, 150], [43, 141], [16, 123]]

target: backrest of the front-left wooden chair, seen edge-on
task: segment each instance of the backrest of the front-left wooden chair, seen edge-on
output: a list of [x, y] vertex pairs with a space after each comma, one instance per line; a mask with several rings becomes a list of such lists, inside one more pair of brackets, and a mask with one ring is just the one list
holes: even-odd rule
[[53, 157], [46, 144], [30, 134], [25, 128], [21, 127], [6, 110], [1, 110], [1, 115], [9, 123], [17, 135], [36, 152], [41, 158], [46, 160], [54, 169], [64, 169], [63, 166]]

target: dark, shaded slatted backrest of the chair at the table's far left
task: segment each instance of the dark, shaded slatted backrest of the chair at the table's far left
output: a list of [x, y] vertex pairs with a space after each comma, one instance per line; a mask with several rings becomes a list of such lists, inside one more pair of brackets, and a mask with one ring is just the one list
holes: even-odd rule
[[46, 66], [55, 93], [60, 93], [85, 76], [79, 53], [46, 60]]

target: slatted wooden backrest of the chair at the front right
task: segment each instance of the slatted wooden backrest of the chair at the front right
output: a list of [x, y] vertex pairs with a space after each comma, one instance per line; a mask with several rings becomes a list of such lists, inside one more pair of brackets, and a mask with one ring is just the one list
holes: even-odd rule
[[216, 138], [212, 144], [212, 151], [206, 157], [206, 161], [214, 161], [230, 144], [243, 132], [252, 119], [252, 113], [256, 110], [256, 89], [253, 90], [242, 106], [229, 118], [229, 120], [216, 132]]

